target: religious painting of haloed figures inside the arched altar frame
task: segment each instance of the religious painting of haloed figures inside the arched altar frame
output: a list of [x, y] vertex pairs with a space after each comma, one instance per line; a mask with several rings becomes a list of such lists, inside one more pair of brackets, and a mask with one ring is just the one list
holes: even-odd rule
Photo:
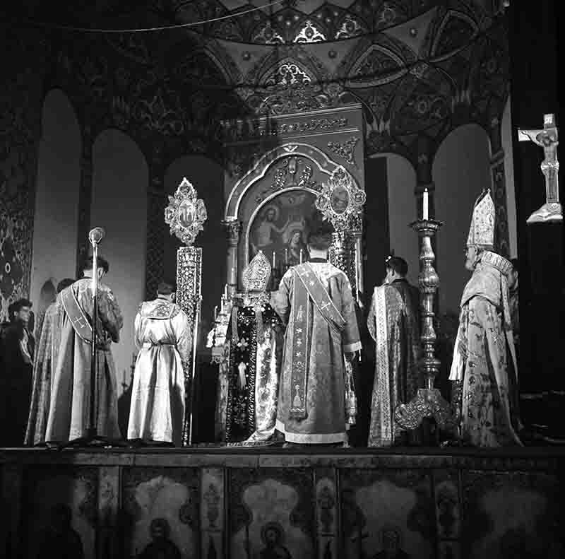
[[299, 264], [307, 259], [308, 225], [316, 206], [316, 195], [305, 190], [291, 190], [275, 196], [260, 206], [249, 228], [249, 259], [259, 250], [275, 267]]

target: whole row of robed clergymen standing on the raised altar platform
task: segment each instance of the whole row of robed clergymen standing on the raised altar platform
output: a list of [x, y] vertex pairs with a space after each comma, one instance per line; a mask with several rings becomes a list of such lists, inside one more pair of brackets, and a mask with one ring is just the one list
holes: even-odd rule
[[[513, 340], [510, 261], [493, 252], [494, 203], [484, 191], [473, 208], [463, 292], [450, 379], [459, 440], [475, 446], [521, 445], [518, 368]], [[218, 437], [232, 445], [280, 441], [295, 445], [347, 445], [355, 423], [352, 363], [361, 350], [355, 299], [347, 275], [328, 262], [331, 223], [309, 223], [309, 260], [290, 267], [278, 291], [267, 292], [270, 263], [262, 252], [242, 274], [244, 293], [233, 300], [220, 365]], [[123, 326], [109, 270], [90, 258], [83, 278], [59, 284], [44, 313], [33, 358], [25, 443], [56, 444], [92, 433], [90, 343], [93, 274], [97, 274], [95, 428], [118, 440], [117, 377], [112, 343]], [[376, 343], [369, 446], [408, 442], [395, 411], [415, 396], [422, 379], [419, 293], [406, 281], [399, 257], [386, 261], [386, 279], [374, 288], [367, 318]], [[20, 330], [17, 330], [20, 332]], [[25, 350], [18, 334], [18, 347]], [[127, 438], [132, 443], [182, 445], [184, 370], [190, 360], [189, 319], [162, 282], [155, 300], [141, 303], [135, 319], [138, 348]], [[28, 388], [29, 389], [29, 388]], [[9, 402], [7, 413], [10, 413]], [[16, 410], [13, 411], [16, 413]]]

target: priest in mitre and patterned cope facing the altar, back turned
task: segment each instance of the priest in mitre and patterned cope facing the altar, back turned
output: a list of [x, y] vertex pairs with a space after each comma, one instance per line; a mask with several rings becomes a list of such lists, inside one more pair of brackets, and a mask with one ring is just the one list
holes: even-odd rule
[[270, 271], [260, 250], [243, 271], [245, 293], [232, 307], [218, 399], [225, 442], [265, 442], [275, 431], [284, 326], [266, 293]]

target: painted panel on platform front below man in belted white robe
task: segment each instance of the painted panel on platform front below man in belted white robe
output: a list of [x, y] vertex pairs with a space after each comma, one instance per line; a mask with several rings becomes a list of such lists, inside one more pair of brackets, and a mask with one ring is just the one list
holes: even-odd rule
[[197, 557], [198, 490], [196, 469], [124, 469], [125, 556]]

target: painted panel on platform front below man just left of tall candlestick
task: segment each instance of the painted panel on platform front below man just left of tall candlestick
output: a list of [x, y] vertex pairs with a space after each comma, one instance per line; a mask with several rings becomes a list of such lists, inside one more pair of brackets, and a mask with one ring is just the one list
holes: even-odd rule
[[428, 473], [344, 470], [341, 508], [344, 557], [436, 556], [434, 500]]

